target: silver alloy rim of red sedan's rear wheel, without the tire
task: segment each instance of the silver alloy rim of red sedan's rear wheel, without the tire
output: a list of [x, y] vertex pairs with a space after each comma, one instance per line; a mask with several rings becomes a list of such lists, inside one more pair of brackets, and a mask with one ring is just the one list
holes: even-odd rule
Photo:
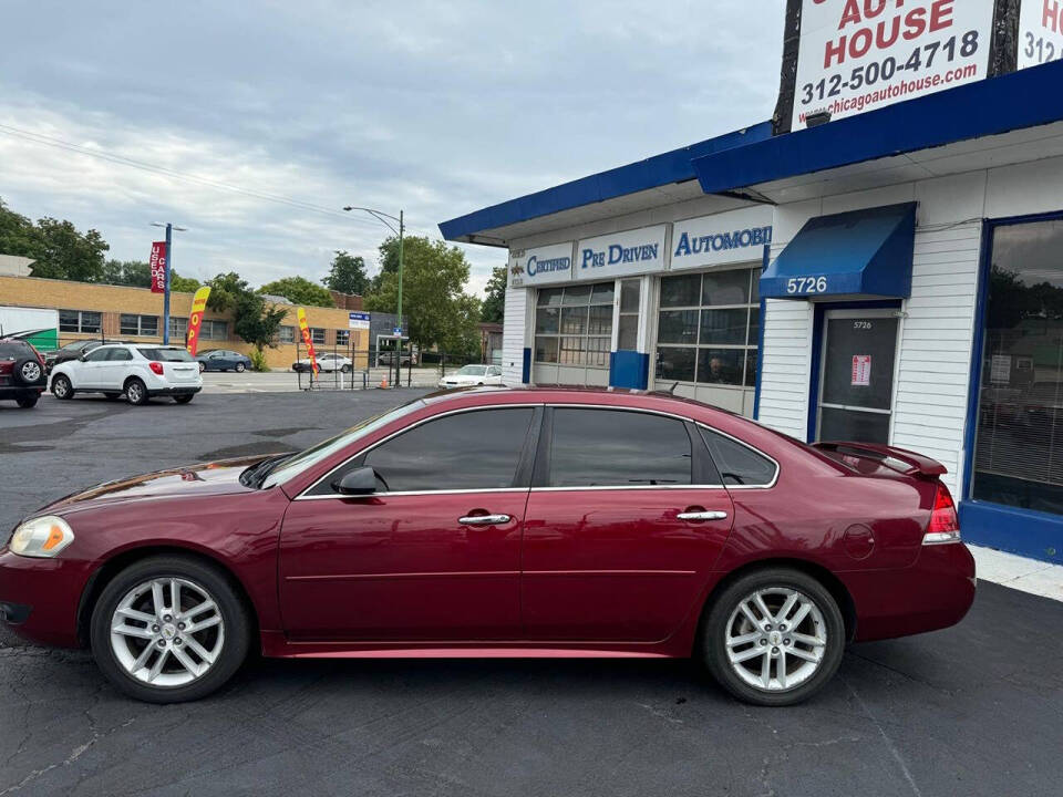
[[746, 596], [727, 620], [724, 640], [734, 673], [763, 692], [788, 692], [819, 670], [827, 649], [823, 612], [786, 587]]

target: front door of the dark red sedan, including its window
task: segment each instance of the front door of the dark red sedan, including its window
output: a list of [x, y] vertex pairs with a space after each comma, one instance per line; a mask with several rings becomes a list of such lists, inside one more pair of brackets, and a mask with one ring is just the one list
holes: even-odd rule
[[[520, 535], [541, 410], [442, 415], [358, 455], [291, 503], [280, 601], [293, 640], [516, 639]], [[333, 484], [372, 467], [379, 489]]]

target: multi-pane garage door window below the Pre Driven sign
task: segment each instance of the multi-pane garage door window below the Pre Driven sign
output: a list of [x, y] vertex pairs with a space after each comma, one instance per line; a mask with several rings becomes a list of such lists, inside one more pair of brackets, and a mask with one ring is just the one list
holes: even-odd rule
[[539, 291], [535, 359], [541, 363], [609, 368], [616, 284], [580, 284]]

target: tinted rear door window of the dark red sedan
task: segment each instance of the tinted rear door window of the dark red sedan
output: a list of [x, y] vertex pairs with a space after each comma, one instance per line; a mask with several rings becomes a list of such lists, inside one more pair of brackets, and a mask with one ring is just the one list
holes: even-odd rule
[[619, 410], [554, 411], [551, 487], [691, 484], [682, 421]]

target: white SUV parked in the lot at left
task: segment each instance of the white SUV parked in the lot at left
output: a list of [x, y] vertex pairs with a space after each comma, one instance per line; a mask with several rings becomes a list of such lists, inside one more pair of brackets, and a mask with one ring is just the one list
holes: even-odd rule
[[187, 404], [203, 390], [199, 364], [180, 346], [116, 343], [93, 349], [52, 370], [52, 393], [71, 398], [74, 393], [103, 393], [130, 404], [146, 404], [155, 396], [172, 396]]

